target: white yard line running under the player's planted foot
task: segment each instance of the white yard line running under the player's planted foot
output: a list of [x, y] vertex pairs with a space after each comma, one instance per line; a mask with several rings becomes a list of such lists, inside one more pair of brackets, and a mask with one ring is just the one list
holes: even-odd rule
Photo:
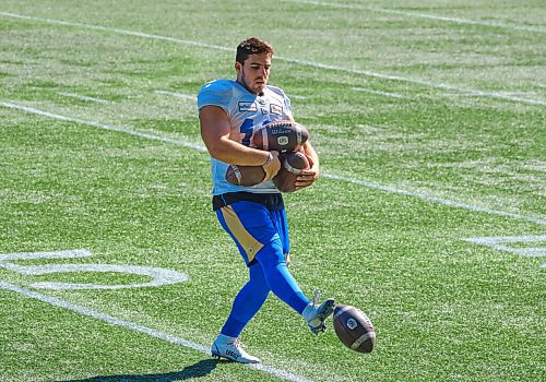
[[[79, 306], [79, 305], [74, 305], [74, 303], [61, 300], [61, 299], [59, 299], [57, 297], [51, 297], [51, 296], [38, 294], [36, 291], [33, 291], [33, 290], [29, 290], [29, 289], [25, 289], [25, 288], [22, 288], [22, 287], [19, 287], [16, 285], [13, 285], [13, 284], [10, 284], [10, 283], [5, 283], [5, 282], [0, 282], [0, 288], [8, 289], [8, 290], [11, 290], [11, 291], [21, 294], [21, 295], [34, 298], [36, 300], [39, 300], [39, 301], [43, 301], [43, 302], [47, 302], [47, 303], [56, 306], [56, 307], [68, 309], [68, 310], [71, 310], [73, 312], [80, 313], [82, 315], [92, 317], [94, 319], [105, 321], [105, 322], [107, 322], [107, 323], [109, 323], [111, 325], [117, 325], [117, 326], [129, 329], [129, 330], [132, 330], [132, 331], [135, 331], [135, 332], [144, 333], [144, 334], [147, 334], [151, 337], [158, 338], [158, 339], [165, 341], [165, 342], [174, 344], [174, 345], [180, 345], [180, 346], [183, 346], [183, 347], [187, 347], [187, 348], [190, 348], [190, 349], [203, 353], [203, 354], [205, 354], [207, 356], [211, 356], [211, 351], [210, 351], [210, 348], [207, 346], [203, 346], [201, 344], [197, 344], [197, 343], [193, 343], [191, 341], [187, 341], [185, 338], [176, 337], [176, 336], [174, 336], [171, 334], [168, 334], [168, 333], [165, 333], [165, 332], [161, 332], [161, 331], [157, 331], [155, 329], [147, 327], [147, 326], [144, 326], [144, 325], [141, 325], [141, 324], [138, 324], [138, 323], [133, 323], [133, 322], [130, 322], [130, 321], [126, 321], [126, 320], [121, 320], [121, 319], [115, 318], [112, 315], [100, 313], [100, 312], [87, 309], [85, 307], [82, 307], [82, 306]], [[256, 370], [259, 370], [259, 371], [262, 371], [262, 372], [265, 372], [268, 374], [271, 374], [273, 377], [276, 377], [278, 379], [283, 379], [283, 380], [286, 380], [286, 381], [293, 381], [293, 382], [312, 382], [311, 380], [308, 380], [308, 379], [306, 379], [304, 377], [296, 375], [296, 374], [293, 374], [293, 373], [290, 373], [288, 371], [276, 369], [276, 368], [273, 368], [271, 366], [263, 365], [263, 363], [245, 365], [245, 366], [249, 367], [249, 368], [252, 368], [252, 369], [256, 369]]]

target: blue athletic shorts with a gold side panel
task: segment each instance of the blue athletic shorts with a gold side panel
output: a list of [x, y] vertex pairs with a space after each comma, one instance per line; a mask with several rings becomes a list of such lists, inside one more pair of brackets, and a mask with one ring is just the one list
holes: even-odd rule
[[238, 201], [216, 210], [222, 227], [232, 236], [247, 266], [256, 263], [256, 254], [268, 243], [280, 240], [283, 254], [289, 252], [288, 222], [284, 208]]

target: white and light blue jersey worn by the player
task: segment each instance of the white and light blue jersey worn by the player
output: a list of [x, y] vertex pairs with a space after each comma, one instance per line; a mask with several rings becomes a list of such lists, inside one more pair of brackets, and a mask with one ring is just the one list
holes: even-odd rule
[[[216, 80], [205, 84], [198, 94], [198, 109], [218, 106], [229, 118], [229, 139], [250, 146], [254, 129], [275, 120], [292, 119], [292, 105], [284, 92], [275, 86], [265, 86], [260, 95], [249, 92], [233, 80]], [[212, 162], [213, 194], [226, 192], [278, 193], [273, 181], [252, 187], [235, 186], [226, 180], [229, 164], [215, 158]]]

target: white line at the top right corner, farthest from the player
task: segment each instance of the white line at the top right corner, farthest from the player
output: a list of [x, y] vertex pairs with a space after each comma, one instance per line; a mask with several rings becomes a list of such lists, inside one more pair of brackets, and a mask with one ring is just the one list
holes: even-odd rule
[[359, 4], [340, 4], [340, 3], [334, 3], [334, 2], [312, 1], [312, 0], [284, 0], [284, 1], [302, 3], [302, 4], [311, 4], [311, 5], [349, 9], [349, 10], [361, 10], [361, 11], [373, 11], [373, 12], [390, 13], [390, 14], [400, 14], [403, 16], [429, 19], [429, 20], [435, 20], [435, 21], [446, 21], [446, 22], [455, 23], [455, 24], [463, 24], [463, 25], [464, 24], [466, 24], [466, 25], [482, 25], [482, 26], [492, 26], [492, 27], [498, 27], [498, 28], [514, 29], [514, 31], [546, 33], [546, 28], [543, 28], [539, 26], [510, 25], [510, 24], [503, 24], [503, 23], [490, 22], [490, 21], [476, 21], [476, 20], [460, 19], [460, 17], [439, 16], [437, 14], [412, 12], [412, 11], [400, 11], [400, 10], [393, 10], [393, 9], [387, 9], [387, 8], [366, 7], [366, 5], [359, 5]]

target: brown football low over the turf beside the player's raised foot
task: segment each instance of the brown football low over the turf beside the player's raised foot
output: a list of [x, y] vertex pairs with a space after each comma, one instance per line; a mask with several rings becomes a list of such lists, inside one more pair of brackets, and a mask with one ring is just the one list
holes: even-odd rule
[[376, 345], [376, 330], [359, 309], [339, 305], [334, 309], [334, 330], [337, 338], [349, 349], [370, 353]]

